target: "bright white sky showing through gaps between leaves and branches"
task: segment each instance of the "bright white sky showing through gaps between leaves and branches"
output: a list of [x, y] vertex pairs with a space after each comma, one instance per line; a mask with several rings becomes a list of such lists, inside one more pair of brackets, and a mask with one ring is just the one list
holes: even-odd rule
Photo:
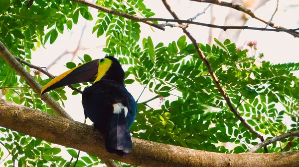
[[[91, 1], [91, 0], [90, 0]], [[188, 19], [193, 17], [198, 12], [201, 12], [208, 3], [199, 3], [187, 0], [168, 0], [172, 9], [176, 12], [180, 19]], [[265, 6], [259, 8], [255, 13], [260, 15], [262, 18], [266, 20], [270, 20], [275, 8], [276, 8], [277, 0], [271, 0]], [[162, 18], [171, 18], [169, 12], [165, 9], [164, 5], [160, 0], [145, 0], [145, 3], [148, 8], [150, 8], [156, 15], [154, 17], [162, 17]], [[279, 9], [273, 19], [273, 22], [277, 25], [284, 26], [286, 28], [298, 28], [299, 27], [299, 8], [286, 8], [289, 4], [298, 4], [298, 0], [280, 0]], [[287, 10], [286, 10], [287, 9]], [[225, 17], [228, 13], [229, 8], [214, 5], [214, 14], [216, 16], [215, 24], [223, 25]], [[106, 54], [102, 52], [102, 48], [97, 48], [99, 46], [104, 46], [106, 43], [105, 36], [101, 36], [100, 38], [96, 37], [96, 33], [91, 34], [92, 28], [95, 25], [96, 20], [98, 19], [96, 16], [98, 14], [97, 10], [92, 9], [91, 13], [93, 14], [93, 21], [88, 21], [87, 27], [85, 29], [81, 45], [83, 48], [91, 48], [90, 50], [79, 51], [78, 55], [83, 57], [84, 54], [88, 54], [93, 58], [102, 58]], [[205, 14], [199, 16], [195, 21], [209, 23], [210, 22], [210, 9], [206, 11]], [[160, 22], [161, 23], [161, 22]], [[79, 18], [78, 24], [73, 24], [73, 29], [71, 32], [68, 32], [66, 27], [64, 30], [64, 34], [59, 34], [57, 40], [54, 44], [50, 45], [46, 44], [46, 49], [39, 48], [36, 52], [32, 52], [32, 64], [38, 66], [48, 66], [57, 56], [63, 53], [66, 49], [68, 51], [73, 51], [77, 48], [78, 41], [82, 32], [82, 28], [85, 24], [85, 19], [81, 17]], [[252, 27], [265, 27], [264, 23], [260, 21], [249, 19], [247, 22], [248, 26]], [[168, 45], [168, 43], [172, 41], [177, 41], [178, 38], [183, 34], [180, 28], [170, 28], [165, 27], [165, 31], [161, 31], [153, 28], [155, 32], [149, 28], [149, 25], [141, 23], [141, 41], [143, 38], [147, 38], [150, 36], [154, 45], [159, 42], [163, 42], [164, 45]], [[188, 30], [197, 40], [197, 42], [206, 44], [208, 41], [209, 28], [190, 25]], [[213, 29], [214, 37], [218, 38], [219, 33], [223, 30], [221, 29]], [[231, 30], [227, 30], [231, 31]], [[265, 57], [264, 60], [269, 60], [273, 63], [286, 63], [286, 62], [299, 62], [299, 38], [294, 38], [292, 35], [287, 33], [277, 33], [277, 32], [262, 32], [262, 31], [254, 31], [254, 30], [243, 30], [239, 41], [237, 42], [237, 46], [243, 46], [245, 41], [257, 41], [258, 53], [263, 52]], [[189, 43], [190, 41], [188, 41]], [[221, 41], [223, 42], [223, 41]], [[55, 65], [53, 65], [49, 72], [53, 75], [59, 75], [62, 72], [66, 71], [67, 68], [64, 66], [66, 62], [70, 61], [72, 55], [63, 56]], [[74, 62], [77, 64], [81, 62], [77, 57], [75, 57]], [[128, 66], [123, 66], [125, 69]], [[46, 78], [46, 76], [43, 76]], [[127, 89], [131, 94], [137, 99], [143, 89], [143, 86], [139, 85], [139, 83], [134, 83], [132, 85], [127, 85]], [[69, 88], [65, 88], [67, 92], [68, 100], [65, 101], [65, 110], [74, 118], [76, 121], [83, 122], [84, 121], [84, 113], [81, 104], [81, 95], [72, 96], [72, 90]], [[140, 99], [140, 102], [150, 99], [155, 96], [154, 94], [144, 93]], [[166, 98], [169, 100], [169, 98]], [[150, 103], [152, 107], [159, 106], [159, 100], [152, 101]], [[90, 122], [89, 122], [90, 124]], [[4, 149], [2, 149], [4, 150]], [[63, 150], [63, 149], [62, 149]], [[5, 153], [5, 155], [7, 155]], [[66, 157], [68, 154], [66, 153]], [[2, 166], [0, 164], [0, 166]]]

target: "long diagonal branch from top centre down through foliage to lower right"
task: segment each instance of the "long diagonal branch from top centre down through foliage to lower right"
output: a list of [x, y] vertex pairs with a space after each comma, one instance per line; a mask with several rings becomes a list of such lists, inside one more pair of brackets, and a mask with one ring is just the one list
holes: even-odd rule
[[[166, 9], [170, 12], [170, 14], [172, 15], [172, 17], [174, 19], [179, 19], [178, 16], [174, 13], [174, 11], [171, 9], [171, 7], [169, 6], [168, 2], [166, 0], [162, 0], [164, 6], [166, 7]], [[182, 24], [182, 23], [180, 23]], [[216, 76], [216, 74], [214, 73], [210, 62], [207, 60], [207, 58], [203, 55], [202, 51], [200, 50], [195, 38], [190, 34], [190, 32], [186, 29], [183, 28], [182, 29], [183, 32], [186, 34], [186, 36], [191, 40], [192, 44], [194, 45], [197, 54], [200, 56], [200, 58], [203, 60], [203, 62], [205, 63], [211, 77], [213, 78], [214, 83], [216, 84], [216, 87], [218, 89], [218, 91], [220, 92], [220, 94], [222, 95], [222, 97], [224, 98], [224, 100], [226, 101], [229, 109], [235, 114], [235, 116], [241, 121], [241, 123], [257, 138], [259, 138], [262, 142], [265, 141], [264, 137], [262, 135], [260, 135], [258, 132], [256, 132], [240, 115], [240, 113], [233, 107], [233, 104], [230, 101], [230, 98], [227, 96], [227, 94], [225, 93], [225, 91], [223, 90], [223, 88], [221, 87], [218, 78]], [[198, 57], [197, 57], [198, 58]], [[265, 149], [265, 153], [268, 153], [268, 149], [267, 147], [264, 147]]]

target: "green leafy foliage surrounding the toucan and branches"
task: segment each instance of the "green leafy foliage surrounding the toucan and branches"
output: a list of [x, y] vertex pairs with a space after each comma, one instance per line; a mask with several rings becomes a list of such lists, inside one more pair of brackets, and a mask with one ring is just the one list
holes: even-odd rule
[[[0, 41], [13, 55], [28, 62], [31, 51], [44, 47], [48, 41], [52, 44], [59, 40], [65, 28], [71, 30], [76, 26], [80, 15], [93, 19], [87, 6], [68, 0], [34, 0], [28, 9], [27, 2], [0, 0]], [[96, 3], [143, 17], [154, 15], [143, 0], [97, 0]], [[96, 32], [97, 37], [105, 34], [107, 38], [103, 51], [118, 56], [122, 64], [130, 65], [125, 72], [125, 83], [143, 85], [144, 92], [151, 92], [160, 99], [158, 107], [138, 101], [138, 114], [130, 129], [134, 137], [220, 153], [247, 152], [260, 142], [229, 110], [207, 67], [185, 36], [169, 44], [156, 43], [150, 37], [140, 39], [137, 21], [101, 11], [95, 19], [93, 33]], [[271, 64], [262, 61], [263, 55], [256, 55], [254, 47], [240, 51], [230, 40], [222, 43], [215, 39], [215, 43], [217, 46], [198, 45], [246, 122], [268, 138], [299, 130], [299, 80], [293, 74], [299, 70], [299, 63]], [[92, 60], [89, 55], [79, 59], [82, 63]], [[66, 62], [65, 66], [73, 68], [80, 64]], [[42, 80], [38, 72], [34, 72], [34, 78], [42, 86], [50, 81]], [[88, 85], [73, 86], [83, 90]], [[54, 114], [1, 57], [0, 89], [8, 101]], [[64, 106], [67, 100], [64, 88], [55, 89], [50, 95]], [[282, 110], [278, 110], [279, 107]], [[290, 126], [286, 125], [286, 119], [292, 122]], [[70, 160], [61, 157], [62, 150], [49, 142], [5, 128], [0, 128], [0, 136], [0, 163], [5, 167], [12, 166], [13, 161], [19, 167], [70, 164]], [[230, 143], [234, 148], [226, 148], [221, 143]], [[269, 152], [298, 149], [298, 140], [294, 137], [268, 146]], [[77, 151], [65, 150], [73, 158], [78, 157]], [[5, 158], [7, 154], [11, 156]], [[102, 162], [97, 157], [88, 155], [79, 157], [76, 167], [99, 163]], [[70, 167], [74, 164], [72, 161]]]

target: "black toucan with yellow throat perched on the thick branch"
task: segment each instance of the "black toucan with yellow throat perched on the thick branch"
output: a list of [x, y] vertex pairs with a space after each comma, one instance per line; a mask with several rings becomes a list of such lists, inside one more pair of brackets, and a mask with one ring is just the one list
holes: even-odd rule
[[125, 88], [124, 80], [120, 62], [113, 56], [105, 56], [55, 77], [44, 86], [41, 95], [66, 85], [94, 81], [82, 93], [85, 119], [88, 117], [105, 135], [108, 152], [126, 156], [132, 148], [129, 127], [135, 120], [137, 104]]

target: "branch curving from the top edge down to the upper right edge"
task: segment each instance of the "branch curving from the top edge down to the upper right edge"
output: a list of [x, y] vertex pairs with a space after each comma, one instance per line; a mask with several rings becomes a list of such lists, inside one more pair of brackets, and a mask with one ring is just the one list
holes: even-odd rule
[[[250, 15], [252, 18], [257, 19], [265, 24], [268, 24], [268, 21], [261, 18], [260, 16], [257, 16], [256, 14], [254, 14], [254, 12], [252, 12], [250, 9], [239, 5], [239, 4], [234, 4], [234, 3], [230, 3], [230, 2], [226, 2], [226, 1], [221, 1], [221, 0], [191, 0], [191, 1], [197, 1], [197, 2], [204, 2], [204, 3], [212, 3], [212, 4], [216, 4], [216, 5], [220, 5], [220, 6], [225, 6], [225, 7], [230, 7], [239, 11], [242, 11], [248, 15]], [[269, 26], [276, 28], [276, 29], [285, 29], [285, 30], [289, 30], [288, 28], [276, 25], [273, 22], [269, 23]], [[294, 37], [299, 38], [299, 33], [298, 32], [294, 32], [294, 31], [286, 31], [287, 33], [293, 35]]]

